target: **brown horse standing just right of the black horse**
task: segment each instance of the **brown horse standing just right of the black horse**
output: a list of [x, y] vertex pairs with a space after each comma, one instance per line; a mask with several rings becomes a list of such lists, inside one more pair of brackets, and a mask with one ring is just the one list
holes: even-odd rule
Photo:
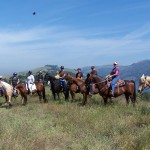
[[87, 99], [87, 95], [89, 92], [87, 90], [85, 80], [74, 78], [71, 75], [66, 75], [65, 79], [68, 81], [67, 84], [69, 85], [72, 101], [74, 100], [76, 93], [83, 94], [83, 99]]

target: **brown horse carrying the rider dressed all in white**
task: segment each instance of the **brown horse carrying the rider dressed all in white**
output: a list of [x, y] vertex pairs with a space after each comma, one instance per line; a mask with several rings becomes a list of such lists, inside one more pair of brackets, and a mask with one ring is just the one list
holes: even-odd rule
[[[42, 99], [43, 99], [43, 101], [46, 103], [47, 100], [46, 100], [46, 96], [45, 96], [45, 87], [44, 87], [43, 83], [42, 82], [36, 82], [35, 86], [36, 86], [36, 89], [32, 91], [32, 94], [37, 93], [39, 96], [39, 101], [42, 102]], [[29, 94], [28, 90], [26, 88], [26, 84], [20, 83], [20, 84], [16, 85], [15, 88], [17, 90], [19, 90], [19, 93], [22, 96], [22, 104], [26, 105], [27, 104], [27, 95]]]

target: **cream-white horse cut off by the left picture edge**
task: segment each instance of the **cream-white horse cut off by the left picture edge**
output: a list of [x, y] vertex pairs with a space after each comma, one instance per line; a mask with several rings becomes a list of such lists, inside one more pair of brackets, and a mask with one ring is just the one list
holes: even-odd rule
[[1, 85], [5, 90], [4, 96], [5, 96], [5, 99], [6, 99], [6, 103], [3, 104], [2, 107], [5, 106], [5, 105], [12, 106], [11, 98], [13, 96], [13, 87], [10, 84], [8, 84], [4, 81], [1, 81]]

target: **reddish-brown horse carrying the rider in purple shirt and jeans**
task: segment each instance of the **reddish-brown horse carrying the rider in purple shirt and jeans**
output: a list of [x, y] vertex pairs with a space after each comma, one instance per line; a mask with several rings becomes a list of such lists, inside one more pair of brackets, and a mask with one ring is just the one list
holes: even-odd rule
[[[107, 104], [108, 98], [111, 99], [110, 88], [108, 87], [108, 83], [106, 82], [106, 79], [103, 79], [99, 76], [90, 74], [87, 79], [89, 83], [95, 84], [96, 88], [99, 91], [99, 94], [102, 96], [104, 100], [104, 104]], [[118, 97], [120, 95], [125, 95], [126, 102], [129, 104], [129, 98], [131, 99], [133, 105], [135, 105], [136, 102], [136, 86], [134, 81], [125, 80], [124, 85], [117, 85], [115, 88], [114, 97]], [[96, 90], [97, 91], [97, 90]], [[93, 91], [95, 93], [95, 91]], [[85, 99], [86, 100], [86, 99]], [[84, 104], [86, 101], [84, 102]]]

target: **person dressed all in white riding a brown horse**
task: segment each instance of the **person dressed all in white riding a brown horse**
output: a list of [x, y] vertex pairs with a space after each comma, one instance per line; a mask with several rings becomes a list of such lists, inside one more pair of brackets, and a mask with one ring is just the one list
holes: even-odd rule
[[32, 71], [28, 72], [28, 77], [26, 80], [27, 86], [28, 86], [28, 92], [32, 94], [32, 86], [34, 85], [35, 78], [32, 75]]

